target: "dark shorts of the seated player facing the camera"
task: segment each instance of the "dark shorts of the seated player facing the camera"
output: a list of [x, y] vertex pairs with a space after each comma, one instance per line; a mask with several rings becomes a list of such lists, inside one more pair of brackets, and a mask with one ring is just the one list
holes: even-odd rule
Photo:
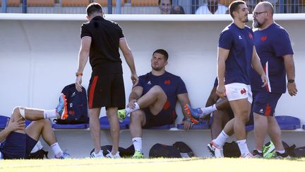
[[165, 103], [162, 110], [157, 115], [153, 115], [149, 108], [144, 108], [143, 110], [146, 117], [146, 123], [143, 128], [172, 125], [177, 118], [175, 107], [170, 105], [169, 101]]

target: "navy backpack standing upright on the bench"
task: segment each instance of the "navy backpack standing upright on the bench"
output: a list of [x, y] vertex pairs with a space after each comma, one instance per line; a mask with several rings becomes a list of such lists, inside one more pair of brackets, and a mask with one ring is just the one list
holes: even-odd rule
[[56, 124], [84, 124], [89, 122], [88, 103], [85, 88], [76, 90], [75, 84], [65, 86], [61, 91], [66, 96], [68, 117], [66, 120], [55, 119]]

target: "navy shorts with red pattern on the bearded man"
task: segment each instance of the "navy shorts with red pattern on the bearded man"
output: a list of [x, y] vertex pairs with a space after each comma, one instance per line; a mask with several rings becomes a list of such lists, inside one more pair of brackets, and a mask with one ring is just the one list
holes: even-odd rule
[[270, 93], [258, 91], [253, 97], [253, 113], [264, 115], [266, 117], [273, 116], [277, 101], [282, 96], [282, 93]]

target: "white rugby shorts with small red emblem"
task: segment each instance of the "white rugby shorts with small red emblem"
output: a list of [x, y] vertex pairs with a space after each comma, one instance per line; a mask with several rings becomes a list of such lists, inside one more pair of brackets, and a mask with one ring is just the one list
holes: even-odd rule
[[225, 85], [227, 99], [229, 101], [236, 101], [243, 98], [248, 98], [249, 103], [252, 103], [251, 86], [241, 83], [232, 83]]

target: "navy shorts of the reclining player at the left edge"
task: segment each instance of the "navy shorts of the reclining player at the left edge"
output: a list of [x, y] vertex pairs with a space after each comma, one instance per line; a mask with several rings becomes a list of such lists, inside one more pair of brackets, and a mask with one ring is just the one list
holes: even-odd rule
[[28, 134], [11, 132], [1, 143], [0, 151], [4, 159], [28, 159], [30, 152], [37, 144]]

